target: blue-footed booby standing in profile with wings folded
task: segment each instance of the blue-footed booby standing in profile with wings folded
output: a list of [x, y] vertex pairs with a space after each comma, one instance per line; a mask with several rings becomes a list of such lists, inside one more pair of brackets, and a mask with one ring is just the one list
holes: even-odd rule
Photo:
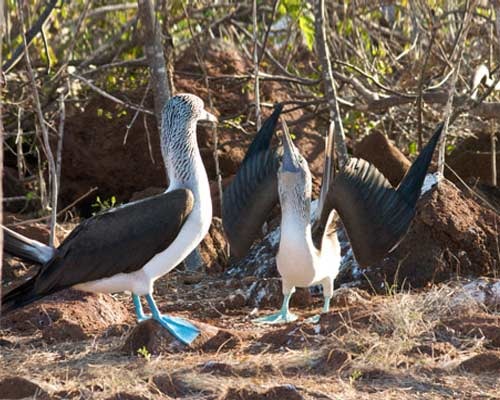
[[162, 315], [152, 297], [156, 279], [176, 267], [207, 234], [212, 200], [198, 149], [196, 124], [216, 121], [194, 95], [179, 94], [162, 111], [161, 150], [168, 189], [160, 195], [96, 215], [52, 249], [5, 229], [7, 252], [42, 264], [38, 273], [5, 294], [2, 311], [22, 307], [65, 288], [111, 293], [130, 291], [139, 321], [152, 318], [183, 343], [199, 334], [180, 318]]

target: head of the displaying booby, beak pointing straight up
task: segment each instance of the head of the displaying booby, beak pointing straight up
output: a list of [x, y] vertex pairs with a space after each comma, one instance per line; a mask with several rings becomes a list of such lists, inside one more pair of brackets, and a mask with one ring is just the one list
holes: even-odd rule
[[283, 121], [283, 156], [278, 171], [278, 189], [282, 207], [288, 204], [308, 214], [311, 198], [311, 172], [307, 161], [295, 147], [286, 123]]

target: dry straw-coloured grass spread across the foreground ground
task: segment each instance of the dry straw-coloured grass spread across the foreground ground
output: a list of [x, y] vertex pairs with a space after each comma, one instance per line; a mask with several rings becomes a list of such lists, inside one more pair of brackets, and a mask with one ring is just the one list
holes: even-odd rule
[[[459, 285], [442, 285], [375, 296], [361, 305], [370, 314], [369, 323], [360, 326], [345, 318], [327, 335], [299, 323], [289, 347], [259, 347], [262, 335], [279, 328], [255, 327], [247, 318], [249, 310], [238, 310], [210, 322], [251, 331], [252, 339], [218, 354], [188, 352], [147, 360], [121, 354], [124, 337], [46, 345], [36, 337], [4, 336], [16, 345], [2, 348], [0, 378], [24, 376], [52, 395], [92, 399], [122, 392], [164, 398], [153, 382], [160, 374], [178, 377], [188, 399], [224, 398], [231, 388], [263, 392], [287, 384], [308, 399], [498, 398], [499, 371], [475, 375], [457, 368], [463, 360], [492, 351], [487, 340], [463, 335], [445, 340], [436, 333], [449, 317], [491, 314], [461, 293]], [[356, 306], [360, 304], [347, 311]], [[435, 354], [415, 350], [436, 343], [446, 346]], [[329, 354], [344, 354], [347, 360], [332, 369], [335, 360]]]

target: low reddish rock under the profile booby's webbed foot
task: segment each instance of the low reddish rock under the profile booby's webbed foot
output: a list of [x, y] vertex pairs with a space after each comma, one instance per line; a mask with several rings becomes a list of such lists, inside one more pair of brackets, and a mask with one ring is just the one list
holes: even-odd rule
[[[140, 349], [147, 349], [152, 355], [179, 353], [183, 351], [202, 349], [205, 352], [216, 351], [223, 345], [233, 348], [237, 342], [229, 331], [198, 321], [190, 321], [200, 330], [200, 335], [191, 345], [185, 345], [175, 339], [167, 329], [157, 321], [146, 320], [135, 326], [122, 347], [122, 351], [130, 355], [138, 355]], [[213, 350], [215, 347], [217, 349]]]

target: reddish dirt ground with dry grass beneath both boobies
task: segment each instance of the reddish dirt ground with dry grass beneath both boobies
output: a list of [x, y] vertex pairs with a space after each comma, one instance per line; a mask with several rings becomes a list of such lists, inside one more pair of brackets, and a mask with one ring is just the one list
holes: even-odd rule
[[384, 295], [341, 288], [319, 324], [305, 321], [322, 303], [311, 295], [293, 307], [299, 321], [282, 326], [251, 321], [277, 306], [253, 306], [255, 281], [181, 269], [158, 281], [163, 312], [224, 331], [194, 349], [130, 354], [137, 328], [125, 294], [35, 303], [2, 321], [0, 398], [500, 398], [500, 281]]

